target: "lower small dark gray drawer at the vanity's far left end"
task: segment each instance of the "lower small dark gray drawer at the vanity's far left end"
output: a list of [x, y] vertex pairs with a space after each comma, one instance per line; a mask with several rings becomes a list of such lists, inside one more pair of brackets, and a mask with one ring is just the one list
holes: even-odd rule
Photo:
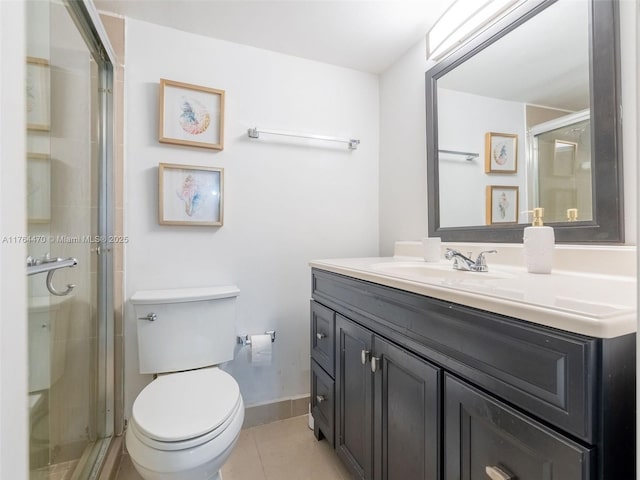
[[320, 431], [334, 445], [334, 381], [315, 361], [311, 360], [311, 414], [316, 438]]

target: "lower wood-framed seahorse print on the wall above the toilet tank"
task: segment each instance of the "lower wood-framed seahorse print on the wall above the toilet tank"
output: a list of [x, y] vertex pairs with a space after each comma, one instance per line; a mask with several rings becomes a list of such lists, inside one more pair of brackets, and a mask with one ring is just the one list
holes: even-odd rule
[[158, 192], [160, 225], [222, 226], [224, 169], [161, 163]]

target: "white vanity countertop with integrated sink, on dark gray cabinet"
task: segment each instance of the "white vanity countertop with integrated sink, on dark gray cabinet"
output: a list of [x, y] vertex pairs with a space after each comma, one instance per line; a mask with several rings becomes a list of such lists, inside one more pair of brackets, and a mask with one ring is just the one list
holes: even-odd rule
[[488, 273], [453, 270], [418, 257], [314, 260], [313, 268], [529, 322], [613, 338], [636, 331], [636, 277], [489, 265]]

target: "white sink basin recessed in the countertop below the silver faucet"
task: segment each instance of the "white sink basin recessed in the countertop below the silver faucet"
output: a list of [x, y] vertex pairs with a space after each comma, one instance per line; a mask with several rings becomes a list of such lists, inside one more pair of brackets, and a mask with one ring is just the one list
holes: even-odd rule
[[488, 280], [504, 280], [513, 278], [509, 273], [499, 271], [472, 272], [469, 270], [454, 270], [451, 263], [426, 263], [426, 262], [385, 262], [371, 265], [372, 270], [377, 270], [385, 275], [398, 275], [401, 277], [415, 277], [421, 281], [452, 281], [455, 283], [484, 283]]

